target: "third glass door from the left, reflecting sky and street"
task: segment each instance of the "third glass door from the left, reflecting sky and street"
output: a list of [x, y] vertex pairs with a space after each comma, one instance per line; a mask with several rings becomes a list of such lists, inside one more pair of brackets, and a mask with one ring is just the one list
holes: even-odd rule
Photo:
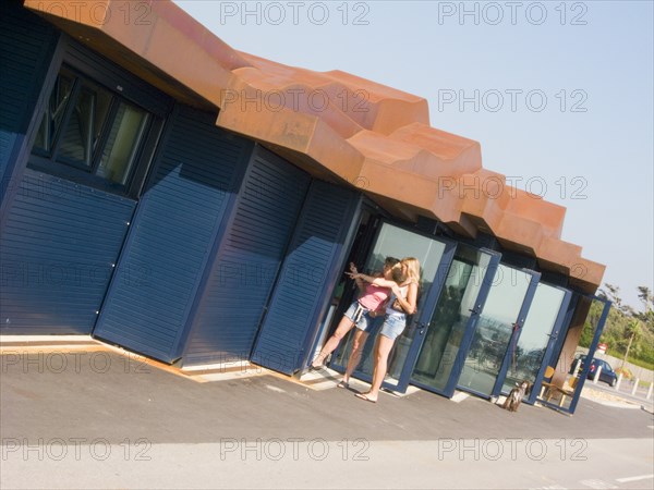
[[465, 356], [460, 390], [485, 397], [498, 391], [540, 277], [531, 270], [499, 265]]

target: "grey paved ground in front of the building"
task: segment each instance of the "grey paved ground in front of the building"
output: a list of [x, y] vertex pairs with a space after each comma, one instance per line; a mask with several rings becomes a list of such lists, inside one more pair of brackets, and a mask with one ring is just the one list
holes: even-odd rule
[[[485, 465], [495, 461], [497, 448], [505, 458], [509, 451], [518, 451], [534, 464], [542, 464], [540, 453], [536, 454], [538, 448], [541, 453], [544, 448], [549, 455], [557, 454], [558, 460], [564, 453], [564, 460], [573, 460], [574, 454], [585, 455], [584, 452], [601, 453], [595, 463], [608, 457], [604, 449], [589, 445], [589, 440], [606, 441], [604, 445], [614, 444], [626, 451], [638, 448], [642, 453], [639, 468], [651, 468], [653, 463], [654, 450], [646, 450], [654, 445], [653, 417], [633, 404], [607, 406], [582, 399], [573, 416], [524, 404], [519, 412], [509, 413], [476, 397], [456, 403], [423, 391], [403, 397], [384, 394], [377, 404], [372, 404], [356, 399], [353, 391], [317, 389], [334, 383], [329, 379], [303, 384], [262, 369], [250, 369], [243, 375], [239, 368], [190, 377], [84, 343], [74, 348], [24, 348], [5, 343], [2, 354], [1, 488], [70, 488], [75, 483], [99, 488], [342, 487], [339, 474], [334, 479], [329, 468], [348, 475], [348, 487], [420, 487], [429, 480], [420, 479], [420, 471], [412, 474], [411, 464], [397, 481], [386, 479], [371, 485], [370, 479], [350, 475], [361, 473], [355, 462], [370, 462], [375, 454], [380, 469], [397, 466], [408, 454], [415, 458], [417, 469], [422, 455], [438, 456], [437, 461], [443, 462], [449, 454], [460, 454], [460, 446], [471, 444], [470, 441], [473, 445], [468, 456], [474, 460], [472, 453], [476, 451], [486, 460], [482, 462]], [[146, 467], [137, 466], [138, 462], [157, 458], [158, 465], [147, 466], [149, 476], [137, 476], [137, 469]], [[238, 460], [238, 465], [229, 466], [228, 479], [203, 479], [202, 465], [182, 480], [175, 479], [180, 478], [179, 473], [174, 473], [175, 478], [168, 475], [171, 465], [187, 470], [194, 464], [229, 463], [230, 458], [234, 463]], [[323, 464], [312, 469], [313, 464], [334, 458], [331, 466]], [[286, 480], [288, 468], [279, 464], [280, 460], [306, 460], [301, 471], [303, 479], [292, 485]], [[455, 466], [462, 462], [461, 457], [456, 460], [451, 462]], [[87, 464], [81, 470], [76, 463], [84, 461]], [[340, 468], [343, 462], [354, 466]], [[94, 466], [100, 463], [101, 466]], [[493, 471], [491, 468], [499, 467], [488, 466]], [[540, 468], [542, 471], [542, 465]], [[525, 471], [524, 481], [518, 479], [513, 488], [537, 487], [529, 480], [536, 470]], [[53, 479], [52, 471], [63, 471], [63, 476]], [[642, 477], [643, 470], [634, 471]], [[645, 471], [647, 486], [634, 488], [652, 488], [653, 480], [647, 480], [651, 471]], [[455, 474], [449, 474], [449, 478]], [[446, 475], [441, 473], [441, 488], [460, 481], [450, 481]], [[479, 482], [484, 487], [507, 486], [488, 476]]]

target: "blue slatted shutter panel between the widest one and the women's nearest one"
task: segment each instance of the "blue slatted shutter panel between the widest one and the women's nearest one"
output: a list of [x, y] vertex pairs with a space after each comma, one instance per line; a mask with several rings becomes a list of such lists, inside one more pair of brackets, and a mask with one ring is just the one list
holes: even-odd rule
[[194, 319], [184, 365], [247, 359], [310, 176], [257, 147]]

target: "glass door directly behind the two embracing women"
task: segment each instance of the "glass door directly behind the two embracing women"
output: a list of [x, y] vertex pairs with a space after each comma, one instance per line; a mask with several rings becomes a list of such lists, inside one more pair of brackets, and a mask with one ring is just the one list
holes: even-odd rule
[[[397, 339], [388, 360], [388, 373], [383, 384], [384, 388], [393, 391], [404, 391], [409, 383], [409, 375], [404, 365], [412, 352], [415, 339], [416, 326], [421, 324], [424, 310], [428, 308], [429, 302], [438, 297], [440, 287], [445, 280], [444, 270], [449, 268], [455, 250], [453, 242], [444, 238], [416, 233], [414, 230], [404, 229], [397, 224], [384, 222], [379, 228], [378, 235], [372, 252], [365, 262], [363, 270], [366, 272], [380, 271], [386, 257], [415, 257], [421, 265], [421, 284], [417, 297], [417, 314], [409, 317], [407, 328]], [[374, 346], [375, 339], [382, 324], [382, 318], [371, 329], [366, 345], [363, 348], [361, 362], [355, 378], [371, 381], [374, 370]], [[339, 348], [334, 353], [329, 366], [343, 372], [352, 351], [353, 331], [341, 342]]]

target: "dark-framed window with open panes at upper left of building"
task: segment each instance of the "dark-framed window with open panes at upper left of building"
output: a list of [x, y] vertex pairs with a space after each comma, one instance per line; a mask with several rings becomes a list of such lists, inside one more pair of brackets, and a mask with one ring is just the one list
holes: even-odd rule
[[[60, 71], [31, 160], [39, 170], [126, 194], [155, 118], [68, 68]], [[144, 151], [149, 155], [144, 155]]]

